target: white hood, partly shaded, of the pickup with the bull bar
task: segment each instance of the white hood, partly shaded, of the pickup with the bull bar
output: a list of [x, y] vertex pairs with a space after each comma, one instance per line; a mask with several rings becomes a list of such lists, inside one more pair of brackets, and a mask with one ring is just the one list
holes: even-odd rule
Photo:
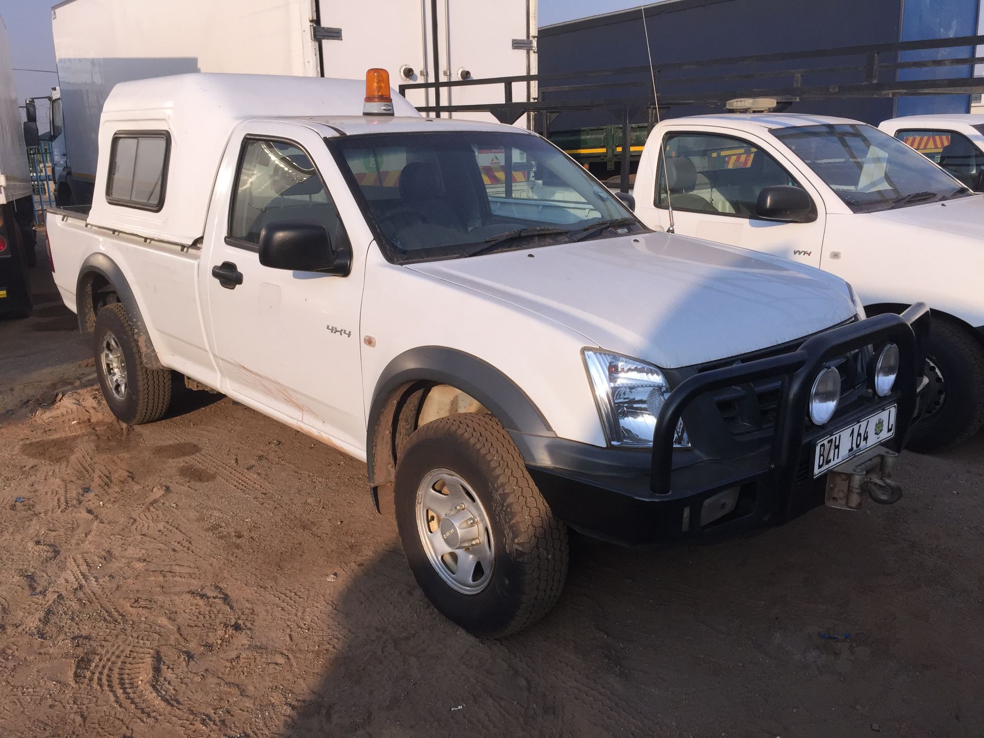
[[856, 314], [838, 277], [668, 233], [408, 268], [537, 313], [578, 332], [586, 344], [666, 369], [768, 348]]

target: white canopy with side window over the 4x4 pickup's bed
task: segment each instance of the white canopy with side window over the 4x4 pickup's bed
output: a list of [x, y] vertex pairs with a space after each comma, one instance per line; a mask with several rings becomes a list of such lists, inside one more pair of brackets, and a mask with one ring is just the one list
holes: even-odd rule
[[[391, 94], [396, 115], [420, 117], [400, 94]], [[99, 121], [89, 222], [191, 245], [205, 233], [215, 175], [236, 125], [250, 118], [361, 116], [364, 97], [362, 80], [275, 75], [186, 74], [120, 83], [106, 98]], [[135, 138], [134, 134], [147, 136]], [[107, 176], [114, 138], [122, 147], [126, 135], [134, 147], [147, 141], [156, 149], [151, 190], [179, 188], [180, 197], [164, 197], [159, 208], [119, 204], [120, 193], [109, 192]], [[117, 165], [126, 160], [134, 167], [134, 187], [138, 187], [145, 163], [135, 151], [121, 149], [119, 158]]]

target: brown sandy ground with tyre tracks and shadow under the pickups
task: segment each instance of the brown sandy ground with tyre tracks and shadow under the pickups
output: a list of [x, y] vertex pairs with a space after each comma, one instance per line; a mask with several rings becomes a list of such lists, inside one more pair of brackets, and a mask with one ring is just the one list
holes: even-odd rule
[[907, 455], [893, 507], [578, 538], [556, 610], [481, 642], [361, 463], [205, 394], [124, 428], [53, 299], [0, 322], [4, 738], [984, 732], [984, 436]]

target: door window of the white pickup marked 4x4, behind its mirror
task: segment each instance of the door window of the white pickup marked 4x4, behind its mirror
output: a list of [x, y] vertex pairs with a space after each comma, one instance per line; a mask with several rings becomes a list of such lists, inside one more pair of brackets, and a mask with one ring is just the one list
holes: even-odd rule
[[247, 138], [229, 208], [229, 243], [256, 251], [264, 226], [282, 221], [321, 223], [333, 244], [347, 243], [332, 196], [307, 152], [288, 141]]

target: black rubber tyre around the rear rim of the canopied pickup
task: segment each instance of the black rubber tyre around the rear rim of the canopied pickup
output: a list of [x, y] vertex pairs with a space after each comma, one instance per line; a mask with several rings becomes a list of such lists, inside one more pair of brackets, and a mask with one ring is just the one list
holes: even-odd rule
[[[102, 364], [102, 342], [107, 333], [116, 338], [123, 352], [127, 387], [122, 400], [117, 400], [110, 392]], [[169, 369], [148, 369], [144, 364], [137, 333], [122, 304], [116, 302], [99, 309], [92, 332], [92, 348], [102, 397], [117, 418], [128, 425], [142, 425], [164, 416], [171, 403], [171, 372]]]

